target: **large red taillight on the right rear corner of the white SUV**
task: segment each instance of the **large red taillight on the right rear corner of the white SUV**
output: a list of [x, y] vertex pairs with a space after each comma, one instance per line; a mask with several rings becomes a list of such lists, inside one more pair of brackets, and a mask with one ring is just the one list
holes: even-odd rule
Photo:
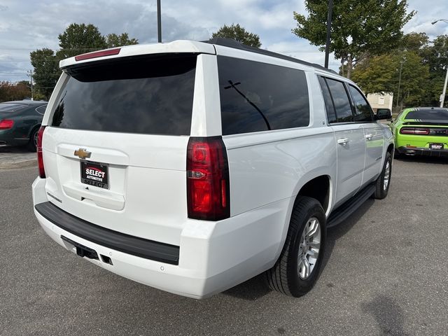
[[188, 217], [219, 221], [230, 217], [227, 152], [221, 137], [190, 138], [187, 149]]

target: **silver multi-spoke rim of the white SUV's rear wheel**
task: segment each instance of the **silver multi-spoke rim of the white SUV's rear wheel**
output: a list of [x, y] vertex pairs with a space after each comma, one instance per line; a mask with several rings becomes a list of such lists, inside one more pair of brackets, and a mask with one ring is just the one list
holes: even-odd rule
[[308, 279], [316, 267], [321, 249], [321, 223], [315, 217], [309, 218], [300, 238], [297, 273], [300, 279]]

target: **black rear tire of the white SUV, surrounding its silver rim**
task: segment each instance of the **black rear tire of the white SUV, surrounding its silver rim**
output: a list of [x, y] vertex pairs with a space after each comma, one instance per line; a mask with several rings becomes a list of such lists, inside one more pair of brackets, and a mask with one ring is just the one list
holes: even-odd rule
[[[299, 274], [300, 270], [303, 270], [303, 268], [300, 268], [300, 265], [302, 265], [300, 260], [303, 259], [299, 257], [299, 254], [302, 253], [300, 243], [305, 228], [311, 228], [309, 222], [312, 221], [312, 218], [315, 218], [320, 225], [320, 246], [314, 267], [306, 279], [302, 279]], [[312, 242], [313, 239], [310, 241]], [[316, 241], [314, 242], [316, 243]], [[272, 290], [277, 290], [293, 297], [299, 297], [308, 293], [317, 281], [323, 253], [325, 252], [325, 242], [326, 218], [321, 204], [314, 198], [298, 196], [291, 214], [288, 235], [286, 236], [279, 260], [277, 260], [272, 269], [268, 269], [265, 272], [267, 285]], [[307, 256], [305, 255], [304, 258], [307, 258]], [[310, 262], [309, 265], [311, 265]]]

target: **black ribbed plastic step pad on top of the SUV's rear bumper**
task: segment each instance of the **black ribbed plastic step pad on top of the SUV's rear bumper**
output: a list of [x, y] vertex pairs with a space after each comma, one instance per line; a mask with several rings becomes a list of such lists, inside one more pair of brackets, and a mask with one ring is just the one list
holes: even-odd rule
[[160, 243], [102, 228], [59, 209], [51, 202], [36, 204], [36, 211], [45, 219], [73, 235], [92, 243], [138, 257], [179, 265], [179, 246]]

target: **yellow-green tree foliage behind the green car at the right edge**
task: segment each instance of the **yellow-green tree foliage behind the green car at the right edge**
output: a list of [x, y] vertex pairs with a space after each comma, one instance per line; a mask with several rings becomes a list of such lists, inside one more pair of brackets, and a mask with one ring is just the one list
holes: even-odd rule
[[352, 79], [366, 93], [393, 92], [400, 106], [438, 106], [447, 64], [447, 35], [430, 42], [426, 34], [412, 32], [392, 52], [358, 63]]

